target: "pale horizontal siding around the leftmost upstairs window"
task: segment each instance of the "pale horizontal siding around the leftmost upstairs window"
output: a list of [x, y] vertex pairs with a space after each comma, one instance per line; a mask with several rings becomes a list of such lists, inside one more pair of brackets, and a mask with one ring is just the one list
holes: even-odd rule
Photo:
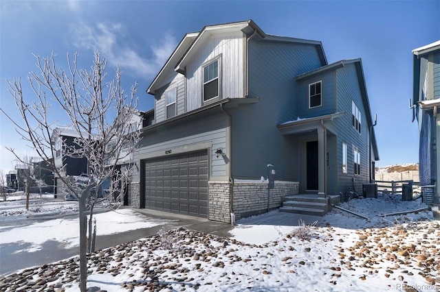
[[166, 91], [177, 88], [176, 93], [176, 108], [177, 114], [184, 114], [185, 112], [185, 77], [179, 73], [171, 74], [172, 77], [168, 78], [170, 82], [166, 86], [159, 88], [155, 93], [155, 122], [159, 123], [166, 120]]

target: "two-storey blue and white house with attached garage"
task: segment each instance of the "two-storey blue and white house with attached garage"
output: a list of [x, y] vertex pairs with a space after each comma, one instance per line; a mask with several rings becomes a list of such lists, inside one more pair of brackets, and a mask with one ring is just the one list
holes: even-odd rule
[[379, 159], [361, 60], [327, 64], [321, 42], [253, 21], [186, 34], [147, 93], [137, 208], [230, 222], [283, 195], [362, 193]]

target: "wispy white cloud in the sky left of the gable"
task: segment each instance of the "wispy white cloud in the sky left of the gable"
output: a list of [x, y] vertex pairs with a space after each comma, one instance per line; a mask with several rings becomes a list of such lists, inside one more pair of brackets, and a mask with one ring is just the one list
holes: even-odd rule
[[121, 66], [125, 72], [153, 77], [173, 52], [177, 42], [165, 34], [157, 45], [151, 46], [151, 58], [142, 58], [125, 40], [126, 28], [120, 23], [98, 23], [95, 27], [77, 23], [71, 27], [72, 42], [78, 49], [98, 50], [109, 64]]

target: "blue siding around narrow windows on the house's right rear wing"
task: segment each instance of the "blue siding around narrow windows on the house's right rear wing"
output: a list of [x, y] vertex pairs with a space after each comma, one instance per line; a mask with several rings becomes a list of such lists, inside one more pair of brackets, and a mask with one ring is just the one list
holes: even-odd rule
[[[362, 102], [360, 84], [355, 64], [347, 64], [336, 71], [336, 94], [338, 95], [338, 112], [346, 112], [336, 119], [338, 127], [338, 188], [346, 193], [352, 188], [355, 178], [355, 191], [362, 194], [362, 184], [369, 182], [369, 126], [367, 125], [366, 109]], [[352, 125], [351, 101], [354, 101], [361, 112], [361, 133]], [[367, 109], [368, 110], [368, 109]], [[347, 173], [342, 173], [342, 143], [347, 144]], [[353, 146], [360, 152], [360, 175], [354, 175]]]

